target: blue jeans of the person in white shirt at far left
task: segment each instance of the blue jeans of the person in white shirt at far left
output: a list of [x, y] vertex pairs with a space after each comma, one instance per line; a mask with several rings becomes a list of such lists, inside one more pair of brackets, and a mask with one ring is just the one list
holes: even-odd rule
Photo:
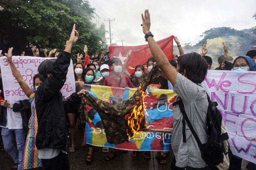
[[[18, 170], [21, 170], [23, 163], [23, 154], [25, 149], [25, 135], [22, 129], [2, 128], [2, 138], [5, 151], [12, 157], [14, 163], [18, 163]], [[17, 149], [13, 145], [13, 136], [15, 134]]]

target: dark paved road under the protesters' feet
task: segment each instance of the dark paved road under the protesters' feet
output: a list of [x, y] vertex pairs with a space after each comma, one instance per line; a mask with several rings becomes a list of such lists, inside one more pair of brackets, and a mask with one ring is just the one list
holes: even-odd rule
[[[151, 152], [151, 159], [146, 160], [143, 157], [144, 152], [139, 152], [134, 158], [131, 157], [131, 151], [124, 152], [119, 150], [117, 157], [111, 161], [105, 161], [106, 153], [101, 151], [101, 147], [95, 148], [91, 165], [86, 165], [85, 158], [87, 156], [88, 147], [80, 146], [82, 136], [82, 131], [76, 129], [76, 151], [75, 153], [69, 153], [70, 160], [74, 164], [74, 166], [72, 166], [70, 161], [71, 170], [170, 170], [171, 161], [173, 159], [172, 153], [167, 156], [167, 163], [165, 165], [161, 165], [157, 162], [154, 157], [156, 152]], [[0, 152], [0, 170], [10, 170], [12, 165], [13, 161], [11, 157], [6, 152]], [[242, 170], [246, 170], [246, 165], [247, 161], [243, 161]]]

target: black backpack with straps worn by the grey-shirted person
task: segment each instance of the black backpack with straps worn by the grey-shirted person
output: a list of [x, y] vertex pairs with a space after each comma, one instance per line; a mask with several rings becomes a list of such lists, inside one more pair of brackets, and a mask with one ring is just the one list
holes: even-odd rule
[[[206, 93], [207, 94], [207, 93]], [[194, 138], [197, 141], [198, 147], [201, 151], [201, 157], [208, 165], [208, 168], [212, 170], [227, 170], [229, 168], [229, 160], [231, 156], [229, 143], [228, 143], [228, 133], [226, 132], [224, 123], [222, 121], [222, 116], [220, 111], [216, 108], [218, 106], [217, 102], [212, 102], [207, 94], [207, 99], [209, 102], [207, 110], [207, 129], [208, 129], [208, 141], [206, 143], [201, 143], [198, 135], [196, 134], [194, 128], [192, 127], [187, 114], [184, 109], [184, 104], [181, 98], [174, 102], [172, 105], [179, 105], [180, 111], [182, 113], [182, 135], [183, 142], [186, 142], [185, 133], [185, 121], [190, 128]]]

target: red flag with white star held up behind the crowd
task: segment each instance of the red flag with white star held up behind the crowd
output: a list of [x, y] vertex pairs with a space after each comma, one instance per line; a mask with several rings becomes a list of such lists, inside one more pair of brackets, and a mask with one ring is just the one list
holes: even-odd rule
[[[173, 39], [174, 39], [174, 36], [171, 36], [166, 39], [157, 41], [157, 44], [163, 50], [168, 60], [172, 59]], [[145, 68], [145, 72], [148, 72], [148, 70], [146, 69], [147, 60], [148, 58], [152, 57], [148, 44], [138, 45], [138, 46], [110, 46], [109, 59], [118, 57], [121, 59], [122, 64], [124, 64], [126, 60], [126, 54], [130, 49], [132, 50], [132, 53], [130, 56], [130, 60], [127, 64], [127, 71], [130, 74], [134, 74], [135, 67], [137, 65], [143, 65]]]

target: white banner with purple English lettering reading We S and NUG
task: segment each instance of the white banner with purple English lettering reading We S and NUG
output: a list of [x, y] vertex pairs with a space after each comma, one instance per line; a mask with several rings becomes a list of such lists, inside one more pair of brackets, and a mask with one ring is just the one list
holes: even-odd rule
[[202, 85], [218, 103], [232, 153], [256, 163], [256, 72], [208, 70]]

